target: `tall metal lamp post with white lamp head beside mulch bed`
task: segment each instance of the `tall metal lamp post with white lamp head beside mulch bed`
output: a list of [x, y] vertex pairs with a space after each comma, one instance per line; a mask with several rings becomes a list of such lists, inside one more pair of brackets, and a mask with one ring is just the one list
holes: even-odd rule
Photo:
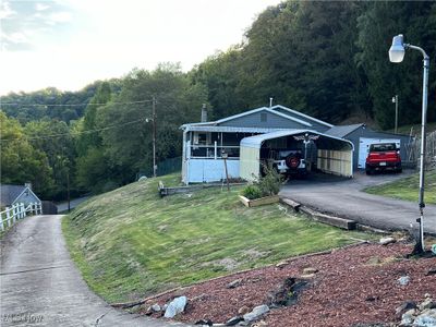
[[423, 55], [424, 72], [423, 72], [423, 98], [422, 98], [422, 124], [421, 124], [421, 162], [420, 162], [420, 218], [416, 221], [420, 223], [420, 242], [416, 244], [416, 252], [423, 253], [424, 245], [424, 168], [425, 168], [425, 123], [427, 121], [427, 97], [428, 97], [428, 71], [429, 57], [424, 49], [404, 44], [402, 34], [392, 38], [392, 45], [389, 49], [389, 60], [391, 62], [401, 62], [404, 59], [405, 49], [417, 50]]

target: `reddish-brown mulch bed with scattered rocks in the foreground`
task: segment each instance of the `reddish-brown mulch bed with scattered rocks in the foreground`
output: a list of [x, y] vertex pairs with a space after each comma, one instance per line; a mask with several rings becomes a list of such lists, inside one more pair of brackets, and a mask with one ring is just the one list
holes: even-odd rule
[[[299, 277], [304, 268], [318, 269], [301, 291], [298, 303], [271, 310], [263, 317], [267, 326], [359, 326], [361, 324], [398, 324], [396, 307], [407, 300], [421, 302], [425, 293], [436, 299], [436, 258], [408, 259], [410, 244], [361, 244], [329, 254], [290, 259], [284, 266], [265, 267], [205, 281], [183, 290], [152, 299], [142, 312], [155, 303], [164, 305], [175, 296], [186, 295], [189, 304], [177, 319], [195, 323], [210, 319], [226, 323], [246, 306], [268, 303], [268, 294], [288, 277]], [[398, 279], [409, 276], [401, 286]], [[227, 286], [240, 279], [233, 289]], [[157, 314], [155, 314], [157, 316]]]

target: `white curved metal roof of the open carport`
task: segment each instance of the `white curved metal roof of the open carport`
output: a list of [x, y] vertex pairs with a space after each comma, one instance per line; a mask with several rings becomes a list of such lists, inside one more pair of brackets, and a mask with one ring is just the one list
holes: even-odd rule
[[293, 135], [303, 134], [303, 133], [310, 133], [310, 134], [324, 136], [324, 138], [331, 140], [335, 143], [337, 143], [339, 141], [342, 144], [349, 145], [350, 149], [354, 149], [354, 145], [352, 144], [352, 142], [350, 142], [348, 140], [323, 134], [323, 133], [312, 131], [312, 130], [283, 130], [283, 131], [276, 131], [276, 132], [270, 132], [270, 133], [266, 133], [266, 134], [259, 134], [259, 135], [255, 135], [255, 136], [249, 136], [249, 137], [244, 137], [241, 140], [241, 147], [244, 146], [244, 147], [252, 147], [252, 148], [261, 148], [262, 144], [267, 140], [279, 138], [279, 137], [284, 137], [284, 136], [293, 136]]

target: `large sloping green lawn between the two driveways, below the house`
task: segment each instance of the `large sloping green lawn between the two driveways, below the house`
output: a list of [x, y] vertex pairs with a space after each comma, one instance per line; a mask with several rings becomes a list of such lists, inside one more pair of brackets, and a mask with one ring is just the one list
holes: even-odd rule
[[82, 204], [63, 219], [63, 232], [85, 280], [112, 303], [373, 238], [286, 214], [278, 204], [246, 208], [240, 191], [159, 198], [157, 180], [148, 179]]

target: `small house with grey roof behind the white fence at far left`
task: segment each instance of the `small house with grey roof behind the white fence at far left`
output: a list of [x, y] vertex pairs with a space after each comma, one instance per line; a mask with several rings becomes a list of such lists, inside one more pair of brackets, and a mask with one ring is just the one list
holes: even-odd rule
[[31, 203], [41, 204], [39, 197], [32, 191], [32, 184], [10, 185], [0, 184], [0, 206], [10, 207], [17, 203], [27, 206]]

